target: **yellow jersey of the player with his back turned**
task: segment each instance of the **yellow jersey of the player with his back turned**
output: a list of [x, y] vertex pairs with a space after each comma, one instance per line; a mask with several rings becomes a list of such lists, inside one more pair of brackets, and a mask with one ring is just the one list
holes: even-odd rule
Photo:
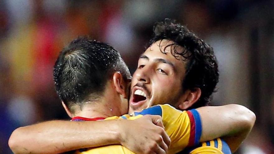
[[[142, 117], [143, 115], [160, 115], [163, 119], [165, 131], [170, 137], [171, 144], [168, 153], [175, 154], [186, 147], [193, 147], [199, 145], [201, 137], [201, 119], [199, 113], [193, 109], [188, 111], [180, 111], [174, 107], [165, 105], [155, 105], [144, 109], [140, 112], [134, 112], [132, 115], [125, 114], [123, 116], [108, 117], [104, 120], [111, 119], [129, 119], [134, 120]], [[77, 119], [76, 119], [77, 120]], [[210, 147], [215, 150], [215, 147]], [[196, 151], [201, 152], [201, 149]], [[196, 152], [193, 151], [193, 152]], [[191, 151], [192, 152], [192, 151]], [[191, 154], [194, 154], [194, 153]], [[134, 154], [126, 147], [121, 145], [109, 145], [89, 149], [79, 149], [75, 154]]]

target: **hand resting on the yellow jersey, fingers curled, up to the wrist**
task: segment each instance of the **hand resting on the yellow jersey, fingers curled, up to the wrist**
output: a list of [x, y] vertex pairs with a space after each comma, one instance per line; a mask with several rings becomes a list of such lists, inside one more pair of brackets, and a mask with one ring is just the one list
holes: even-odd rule
[[120, 125], [120, 143], [137, 154], [166, 154], [170, 138], [164, 130], [162, 117], [144, 115], [124, 120]]

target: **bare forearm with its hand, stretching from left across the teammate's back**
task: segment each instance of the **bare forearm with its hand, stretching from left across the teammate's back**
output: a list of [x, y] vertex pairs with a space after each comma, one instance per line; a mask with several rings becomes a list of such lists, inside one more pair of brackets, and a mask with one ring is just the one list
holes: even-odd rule
[[[170, 140], [160, 126], [163, 127], [161, 117], [151, 115], [136, 120], [53, 120], [17, 128], [8, 144], [15, 154], [57, 154], [109, 144], [122, 144], [136, 153], [163, 153]], [[136, 133], [139, 135], [134, 136]], [[142, 146], [142, 142], [150, 144]]]

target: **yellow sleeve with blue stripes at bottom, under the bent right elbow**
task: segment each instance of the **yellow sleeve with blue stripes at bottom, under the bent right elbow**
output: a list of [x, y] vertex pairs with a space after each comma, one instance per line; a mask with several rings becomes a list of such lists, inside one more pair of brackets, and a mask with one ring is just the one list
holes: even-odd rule
[[178, 154], [232, 154], [232, 152], [224, 140], [217, 138], [195, 147], [187, 147]]

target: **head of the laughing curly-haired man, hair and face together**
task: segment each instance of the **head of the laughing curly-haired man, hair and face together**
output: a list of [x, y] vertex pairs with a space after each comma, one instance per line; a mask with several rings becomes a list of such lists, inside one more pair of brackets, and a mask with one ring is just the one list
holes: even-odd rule
[[[157, 68], [156, 71], [153, 71], [154, 67]], [[164, 76], [158, 75], [157, 71]], [[140, 82], [136, 81], [137, 79]], [[153, 81], [146, 81], [147, 79]], [[154, 92], [161, 92], [159, 94], [161, 98], [153, 97], [154, 100], [150, 100], [146, 97], [146, 103], [144, 103], [142, 100], [144, 97], [135, 99], [135, 95], [132, 95], [130, 111], [141, 110], [147, 105], [152, 105], [152, 102], [169, 102], [181, 110], [206, 106], [210, 102], [211, 94], [215, 91], [218, 79], [218, 64], [210, 45], [186, 27], [166, 19], [165, 22], [158, 22], [154, 26], [154, 36], [149, 41], [149, 47], [139, 58], [131, 84], [134, 86], [137, 82], [138, 84], [154, 82], [152, 84], [155, 87]], [[182, 99], [179, 101], [182, 96], [189, 94], [197, 100], [185, 103], [181, 103], [184, 101]], [[168, 96], [166, 100], [162, 98], [164, 95]], [[136, 103], [138, 100], [142, 102]]]

